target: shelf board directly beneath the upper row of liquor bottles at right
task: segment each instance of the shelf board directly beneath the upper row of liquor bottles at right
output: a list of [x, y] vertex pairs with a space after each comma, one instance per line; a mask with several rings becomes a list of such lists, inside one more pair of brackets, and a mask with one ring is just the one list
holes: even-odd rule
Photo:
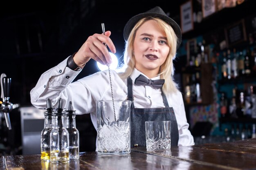
[[239, 84], [239, 83], [251, 83], [256, 82], [256, 75], [248, 75], [243, 77], [231, 78], [231, 79], [220, 79], [219, 84]]

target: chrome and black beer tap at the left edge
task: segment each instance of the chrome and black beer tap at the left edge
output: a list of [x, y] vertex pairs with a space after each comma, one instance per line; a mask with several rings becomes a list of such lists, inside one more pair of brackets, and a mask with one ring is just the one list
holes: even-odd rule
[[11, 130], [11, 121], [9, 117], [9, 113], [13, 109], [13, 104], [9, 102], [9, 92], [11, 87], [11, 78], [7, 78], [6, 74], [2, 73], [0, 77], [1, 81], [1, 98], [2, 98], [2, 104], [0, 105], [0, 112], [4, 113], [5, 121], [7, 128]]

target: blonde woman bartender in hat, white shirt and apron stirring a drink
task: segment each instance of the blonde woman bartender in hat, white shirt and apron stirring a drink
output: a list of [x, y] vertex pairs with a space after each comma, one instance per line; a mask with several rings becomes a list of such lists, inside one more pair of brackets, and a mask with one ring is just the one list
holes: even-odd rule
[[[49, 98], [56, 104], [61, 97], [65, 108], [72, 101], [77, 114], [90, 113], [97, 129], [96, 101], [112, 99], [108, 71], [100, 71], [72, 82], [90, 60], [111, 64], [116, 52], [105, 35], [90, 36], [77, 53], [43, 73], [31, 90], [31, 103], [45, 108]], [[178, 24], [155, 7], [130, 18], [124, 27], [125, 71], [111, 71], [114, 99], [133, 100], [131, 145], [146, 146], [145, 121], [170, 120], [171, 146], [193, 145], [186, 120], [182, 94], [173, 81], [173, 59], [181, 43]]]

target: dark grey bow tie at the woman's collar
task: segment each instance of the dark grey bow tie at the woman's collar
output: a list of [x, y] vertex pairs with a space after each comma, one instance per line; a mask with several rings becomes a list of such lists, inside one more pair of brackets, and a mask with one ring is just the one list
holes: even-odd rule
[[135, 79], [135, 85], [143, 85], [143, 86], [151, 86], [153, 88], [162, 88], [164, 84], [164, 79], [156, 79], [156, 80], [151, 80], [147, 79], [144, 75], [139, 75]]

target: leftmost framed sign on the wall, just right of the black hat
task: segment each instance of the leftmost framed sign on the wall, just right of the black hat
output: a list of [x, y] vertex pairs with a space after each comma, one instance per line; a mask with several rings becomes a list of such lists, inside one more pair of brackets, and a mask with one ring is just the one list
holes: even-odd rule
[[194, 29], [192, 0], [180, 6], [181, 31], [185, 33]]

